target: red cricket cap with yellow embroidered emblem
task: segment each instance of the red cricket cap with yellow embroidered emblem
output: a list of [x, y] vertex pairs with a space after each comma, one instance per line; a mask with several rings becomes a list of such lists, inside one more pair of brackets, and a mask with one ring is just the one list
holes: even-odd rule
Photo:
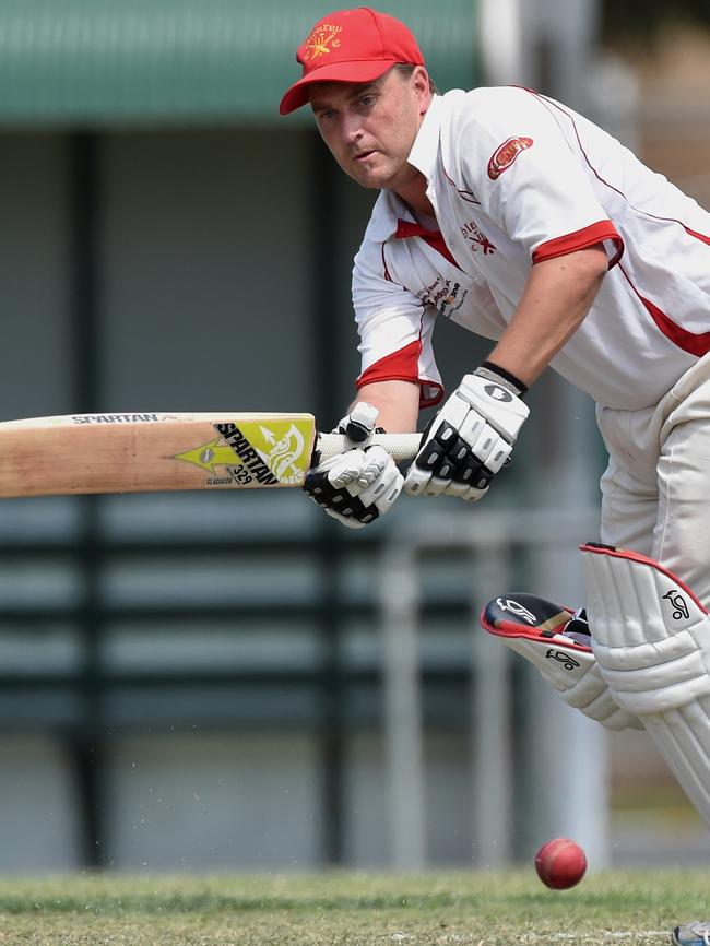
[[306, 105], [313, 82], [372, 82], [397, 62], [424, 66], [416, 39], [404, 23], [369, 7], [323, 16], [298, 47], [296, 59], [304, 74], [281, 99], [282, 115]]

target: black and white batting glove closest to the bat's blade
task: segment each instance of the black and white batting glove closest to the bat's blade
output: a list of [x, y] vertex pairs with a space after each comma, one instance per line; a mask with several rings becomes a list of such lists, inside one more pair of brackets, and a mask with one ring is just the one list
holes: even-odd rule
[[[404, 477], [382, 447], [364, 448], [376, 433], [377, 407], [360, 402], [335, 430], [353, 446], [306, 474], [304, 490], [348, 529], [362, 529], [387, 512], [402, 492]], [[346, 441], [346, 442], [347, 442]]]

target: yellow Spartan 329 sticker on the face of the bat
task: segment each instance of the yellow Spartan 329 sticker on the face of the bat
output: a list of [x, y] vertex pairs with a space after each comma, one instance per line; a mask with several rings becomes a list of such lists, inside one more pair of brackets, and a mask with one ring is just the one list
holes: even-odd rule
[[194, 463], [211, 476], [226, 473], [242, 486], [293, 486], [304, 482], [310, 464], [307, 446], [312, 422], [240, 421], [213, 426], [218, 435], [214, 440], [178, 453], [175, 459]]

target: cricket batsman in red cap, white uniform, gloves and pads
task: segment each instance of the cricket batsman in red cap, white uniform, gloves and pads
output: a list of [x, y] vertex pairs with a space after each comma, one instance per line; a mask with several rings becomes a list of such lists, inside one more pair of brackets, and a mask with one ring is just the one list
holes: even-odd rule
[[[402, 489], [482, 499], [546, 367], [590, 394], [608, 465], [587, 608], [502, 596], [484, 626], [567, 702], [648, 730], [710, 824], [710, 214], [547, 96], [439, 94], [409, 28], [376, 10], [323, 16], [297, 60], [281, 113], [309, 106], [340, 167], [379, 190], [353, 269], [353, 449], [306, 492], [351, 528]], [[446, 399], [437, 318], [492, 340]], [[368, 447], [438, 403], [404, 476]], [[572, 660], [546, 660], [551, 640]], [[710, 923], [673, 942], [709, 944]]]

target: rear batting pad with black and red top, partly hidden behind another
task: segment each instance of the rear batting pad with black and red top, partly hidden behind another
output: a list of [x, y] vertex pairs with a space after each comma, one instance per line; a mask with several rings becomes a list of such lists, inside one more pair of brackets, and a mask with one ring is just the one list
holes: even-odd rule
[[643, 729], [614, 701], [591, 648], [565, 636], [571, 617], [567, 607], [512, 592], [488, 602], [481, 625], [529, 660], [568, 706], [610, 730]]

